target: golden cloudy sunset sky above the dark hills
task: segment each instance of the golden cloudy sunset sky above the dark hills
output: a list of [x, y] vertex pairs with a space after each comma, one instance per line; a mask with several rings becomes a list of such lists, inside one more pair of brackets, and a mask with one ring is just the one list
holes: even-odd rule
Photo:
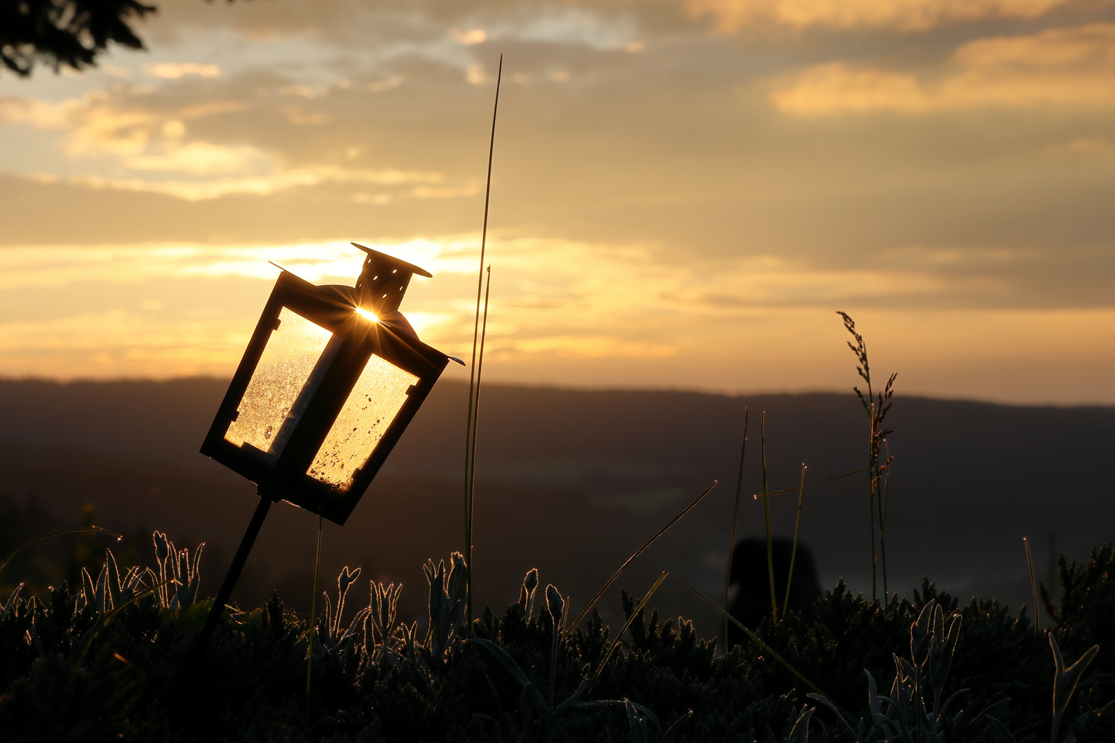
[[[277, 275], [417, 263], [486, 378], [1115, 402], [1115, 3], [167, 0], [0, 72], [0, 375], [231, 374]], [[460, 377], [459, 370], [447, 374]]]

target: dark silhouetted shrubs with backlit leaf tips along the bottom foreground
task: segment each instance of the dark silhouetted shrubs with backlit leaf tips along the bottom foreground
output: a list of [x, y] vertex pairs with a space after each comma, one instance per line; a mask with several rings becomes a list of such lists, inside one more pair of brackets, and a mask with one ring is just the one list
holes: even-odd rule
[[[791, 612], [777, 626], [758, 625], [758, 636], [828, 695], [824, 703], [754, 643], [718, 653], [689, 622], [657, 610], [632, 618], [597, 674], [614, 639], [609, 628], [595, 612], [584, 626], [565, 627], [556, 589], [535, 600], [535, 573], [520, 602], [502, 616], [486, 609], [468, 637], [459, 556], [427, 566], [425, 633], [396, 623], [397, 587], [372, 584], [369, 604], [353, 613], [357, 574], [346, 571], [314, 625], [308, 695], [310, 627], [284, 613], [278, 594], [226, 618], [191, 666], [210, 603], [190, 590], [196, 557], [156, 539], [157, 570], [119, 570], [109, 555], [79, 589], [62, 585], [47, 603], [8, 599], [0, 614], [6, 741], [873, 741], [901, 722], [901, 711], [880, 702], [886, 690], [914, 690], [930, 713], [953, 697], [933, 717], [938, 737], [914, 731], [891, 740], [1050, 737], [1049, 635], [1036, 633], [1025, 612], [1011, 616], [995, 600], [960, 606], [928, 580], [912, 600], [885, 603], [841, 584], [816, 600], [811, 618]], [[1047, 600], [1066, 666], [1099, 645], [1058, 740], [1069, 732], [1115, 740], [1113, 567], [1111, 545], [1083, 564], [1063, 560], [1065, 589]], [[166, 590], [173, 576], [184, 585]], [[638, 598], [621, 598], [631, 618]], [[934, 648], [948, 651], [951, 666], [930, 678], [946, 652]], [[867, 674], [882, 705], [874, 717]]]

